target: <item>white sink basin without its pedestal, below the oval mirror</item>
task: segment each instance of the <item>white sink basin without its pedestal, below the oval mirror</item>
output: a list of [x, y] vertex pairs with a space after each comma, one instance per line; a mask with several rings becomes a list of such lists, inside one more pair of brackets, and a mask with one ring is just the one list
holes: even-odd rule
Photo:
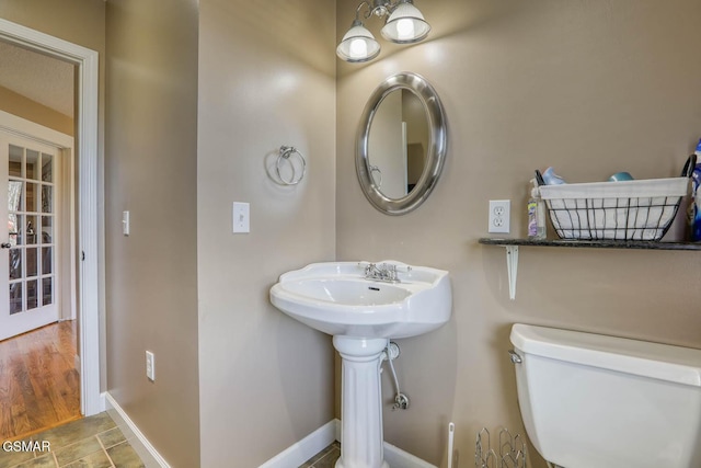
[[288, 316], [332, 335], [406, 338], [450, 319], [448, 272], [395, 261], [399, 283], [365, 278], [367, 262], [312, 263], [280, 276], [271, 301]]

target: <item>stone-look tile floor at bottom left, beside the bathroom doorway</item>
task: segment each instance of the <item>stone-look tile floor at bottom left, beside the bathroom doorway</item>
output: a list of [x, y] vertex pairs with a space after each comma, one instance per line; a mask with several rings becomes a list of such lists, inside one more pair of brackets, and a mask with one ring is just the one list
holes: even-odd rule
[[0, 468], [143, 468], [107, 413], [72, 421], [24, 441], [38, 442], [38, 448], [47, 442], [50, 449], [14, 452], [10, 442], [3, 442]]

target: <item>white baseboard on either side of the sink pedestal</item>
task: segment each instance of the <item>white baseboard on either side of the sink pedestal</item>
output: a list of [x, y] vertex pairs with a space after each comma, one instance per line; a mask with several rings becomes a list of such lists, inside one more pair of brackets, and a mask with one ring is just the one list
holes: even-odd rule
[[[341, 421], [337, 419], [327, 422], [258, 468], [298, 467], [326, 448], [333, 441], [341, 441]], [[437, 468], [387, 442], [382, 448], [384, 460], [391, 468]]]

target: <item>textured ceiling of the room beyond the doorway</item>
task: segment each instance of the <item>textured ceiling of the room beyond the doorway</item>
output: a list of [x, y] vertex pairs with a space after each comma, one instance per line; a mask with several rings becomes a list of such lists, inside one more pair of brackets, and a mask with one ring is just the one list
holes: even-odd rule
[[0, 41], [0, 87], [73, 117], [74, 66]]

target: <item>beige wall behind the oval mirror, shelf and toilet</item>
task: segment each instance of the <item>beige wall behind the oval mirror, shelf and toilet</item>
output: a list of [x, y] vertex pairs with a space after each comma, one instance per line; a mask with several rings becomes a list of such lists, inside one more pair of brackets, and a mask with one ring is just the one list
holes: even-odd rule
[[[337, 2], [337, 32], [357, 1]], [[554, 165], [574, 182], [619, 170], [677, 175], [701, 136], [696, 0], [495, 2], [417, 0], [428, 42], [390, 47], [367, 66], [338, 62], [337, 258], [397, 259], [451, 272], [453, 315], [430, 334], [400, 340], [409, 411], [386, 411], [386, 440], [446, 465], [447, 424], [460, 465], [474, 434], [520, 432], [506, 351], [512, 323], [605, 332], [701, 347], [693, 252], [521, 248], [515, 301], [505, 252], [481, 247], [487, 201], [512, 199], [512, 235], [526, 235], [528, 181]], [[379, 37], [379, 22], [369, 26]], [[404, 70], [436, 88], [449, 125], [448, 159], [416, 212], [384, 216], [358, 187], [354, 137], [363, 105]], [[389, 398], [392, 385], [384, 380]], [[336, 393], [338, 397], [338, 393]], [[532, 456], [533, 466], [544, 465]]]

